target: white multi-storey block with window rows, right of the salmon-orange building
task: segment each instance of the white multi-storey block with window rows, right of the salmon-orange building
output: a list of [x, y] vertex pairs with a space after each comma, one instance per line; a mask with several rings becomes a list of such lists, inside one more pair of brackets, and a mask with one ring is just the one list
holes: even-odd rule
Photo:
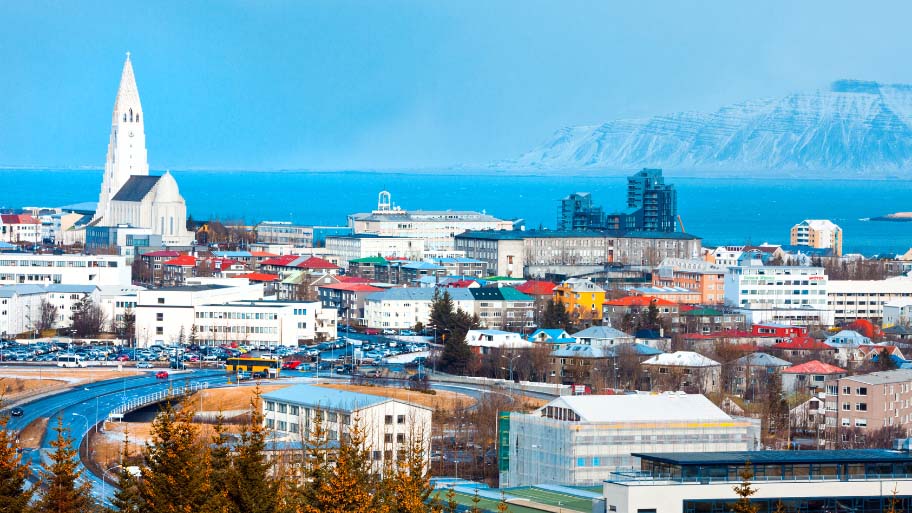
[[729, 267], [725, 303], [753, 324], [830, 326], [828, 285], [822, 267], [766, 266], [752, 260], [750, 265]]

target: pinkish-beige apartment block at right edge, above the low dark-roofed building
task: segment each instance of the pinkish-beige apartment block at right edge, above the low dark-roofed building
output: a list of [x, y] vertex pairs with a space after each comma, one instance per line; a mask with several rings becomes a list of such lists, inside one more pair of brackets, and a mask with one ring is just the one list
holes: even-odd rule
[[[840, 431], [857, 428], [871, 433], [899, 427], [909, 434], [912, 427], [912, 370], [837, 376], [826, 381], [827, 440], [838, 443]], [[843, 429], [850, 428], [850, 429]]]

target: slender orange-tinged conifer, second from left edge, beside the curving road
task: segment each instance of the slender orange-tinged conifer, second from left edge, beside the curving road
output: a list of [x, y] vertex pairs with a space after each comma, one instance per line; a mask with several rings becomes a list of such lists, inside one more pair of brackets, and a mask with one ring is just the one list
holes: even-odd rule
[[41, 513], [92, 513], [98, 506], [92, 498], [88, 482], [77, 484], [82, 472], [73, 448], [69, 429], [63, 427], [63, 419], [57, 418], [54, 428], [57, 437], [51, 442], [51, 461], [44, 467], [46, 487], [39, 491], [35, 510]]

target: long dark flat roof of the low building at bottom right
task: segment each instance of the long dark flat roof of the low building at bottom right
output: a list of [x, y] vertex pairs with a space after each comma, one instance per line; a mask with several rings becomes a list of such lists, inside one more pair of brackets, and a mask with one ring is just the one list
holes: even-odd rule
[[912, 453], [887, 449], [824, 451], [656, 452], [631, 456], [672, 465], [775, 465], [794, 463], [879, 463], [912, 461]]

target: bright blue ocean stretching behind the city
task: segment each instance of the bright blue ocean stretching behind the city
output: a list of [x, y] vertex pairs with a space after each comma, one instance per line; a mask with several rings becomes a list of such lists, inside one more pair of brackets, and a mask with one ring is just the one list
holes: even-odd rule
[[[621, 175], [516, 176], [416, 172], [175, 171], [194, 219], [291, 221], [343, 225], [392, 193], [404, 209], [478, 210], [522, 218], [528, 228], [553, 228], [558, 204], [572, 192], [592, 193], [606, 211], [622, 210]], [[0, 170], [0, 208], [97, 201], [100, 170]], [[912, 181], [666, 177], [678, 191], [688, 233], [705, 245], [787, 244], [803, 219], [830, 219], [843, 229], [846, 253], [904, 253], [912, 222], [869, 221], [912, 211]]]

